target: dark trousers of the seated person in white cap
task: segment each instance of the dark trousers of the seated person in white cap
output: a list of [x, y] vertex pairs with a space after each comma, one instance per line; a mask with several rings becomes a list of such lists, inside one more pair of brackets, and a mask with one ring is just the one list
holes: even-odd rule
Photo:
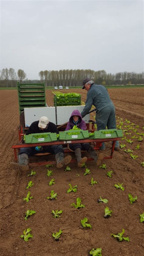
[[64, 153], [62, 145], [52, 145], [52, 146], [44, 146], [42, 150], [35, 150], [35, 147], [21, 147], [19, 150], [20, 154], [27, 154], [28, 157], [33, 156], [34, 154], [38, 153], [52, 153], [57, 154], [59, 152]]

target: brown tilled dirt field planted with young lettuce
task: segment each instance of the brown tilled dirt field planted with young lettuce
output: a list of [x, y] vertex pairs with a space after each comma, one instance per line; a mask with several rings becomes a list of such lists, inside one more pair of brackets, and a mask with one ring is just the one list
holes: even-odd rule
[[[54, 90], [52, 90], [54, 91]], [[81, 89], [69, 89], [62, 92], [81, 93], [82, 101], [85, 102], [87, 92]], [[137, 131], [142, 130], [144, 107], [143, 107], [143, 88], [117, 88], [108, 89], [110, 97], [115, 104], [117, 124], [123, 122], [124, 126], [129, 125], [125, 119], [130, 120], [135, 126], [139, 125]], [[49, 106], [53, 106], [53, 94], [46, 90], [46, 99]], [[19, 142], [17, 126], [19, 125], [19, 108], [17, 90], [0, 90], [0, 109], [1, 109], [1, 226], [0, 226], [0, 254], [9, 255], [43, 255], [43, 256], [87, 256], [92, 248], [102, 248], [103, 256], [116, 255], [139, 255], [144, 253], [144, 225], [140, 223], [139, 214], [144, 212], [143, 203], [143, 176], [144, 168], [141, 162], [144, 161], [143, 141], [137, 138], [132, 139], [133, 144], [125, 140], [120, 143], [126, 144], [125, 149], [133, 150], [134, 155], [139, 157], [133, 160], [126, 154], [123, 148], [120, 152], [114, 152], [111, 160], [103, 160], [107, 169], [103, 170], [95, 166], [94, 161], [88, 161], [87, 167], [91, 174], [84, 176], [84, 168], [78, 168], [77, 164], [69, 164], [72, 171], [65, 172], [63, 169], [53, 170], [53, 177], [56, 184], [49, 186], [51, 179], [46, 176], [45, 166], [35, 166], [34, 177], [28, 177], [29, 172], [20, 172], [9, 168], [9, 163], [14, 161], [14, 154], [11, 146]], [[94, 113], [91, 114], [91, 118]], [[119, 118], [118, 118], [119, 117]], [[122, 118], [122, 120], [120, 120]], [[130, 124], [131, 125], [131, 124]], [[132, 127], [135, 127], [132, 126]], [[126, 135], [130, 139], [136, 133], [128, 130], [132, 134]], [[126, 132], [125, 132], [126, 133]], [[139, 135], [138, 135], [139, 136]], [[143, 136], [141, 136], [143, 138]], [[135, 146], [140, 144], [140, 150]], [[111, 144], [106, 143], [104, 155], [110, 154]], [[74, 158], [74, 154], [72, 154]], [[87, 153], [83, 153], [87, 155]], [[48, 156], [48, 159], [54, 156]], [[39, 161], [47, 159], [47, 156], [39, 157]], [[107, 171], [112, 170], [112, 178], [108, 178]], [[80, 174], [78, 177], [77, 174]], [[91, 178], [98, 181], [94, 186], [90, 185]], [[23, 198], [27, 195], [26, 186], [32, 180], [34, 185], [29, 191], [34, 199], [24, 202]], [[115, 189], [115, 183], [123, 183], [125, 190]], [[67, 194], [69, 183], [77, 185], [76, 193]], [[50, 191], [57, 192], [57, 200], [49, 201]], [[129, 203], [128, 193], [138, 197], [134, 204]], [[108, 204], [98, 204], [97, 199], [108, 199]], [[80, 197], [85, 205], [84, 209], [75, 209], [70, 204], [76, 202]], [[113, 211], [109, 219], [104, 219], [104, 209], [108, 206]], [[36, 210], [36, 214], [28, 220], [24, 220], [26, 210]], [[63, 210], [61, 217], [54, 219], [51, 211], [56, 209]], [[87, 217], [92, 229], [81, 228], [81, 219]], [[20, 235], [23, 230], [31, 228], [33, 238], [25, 242]], [[122, 232], [124, 236], [129, 236], [130, 242], [118, 242], [110, 234]], [[52, 233], [59, 229], [63, 230], [58, 242], [53, 240]]]

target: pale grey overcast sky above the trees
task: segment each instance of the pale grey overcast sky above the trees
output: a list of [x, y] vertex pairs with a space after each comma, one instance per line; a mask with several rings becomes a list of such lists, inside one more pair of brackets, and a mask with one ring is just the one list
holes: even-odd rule
[[137, 72], [144, 67], [144, 2], [0, 1], [0, 70], [92, 69]]

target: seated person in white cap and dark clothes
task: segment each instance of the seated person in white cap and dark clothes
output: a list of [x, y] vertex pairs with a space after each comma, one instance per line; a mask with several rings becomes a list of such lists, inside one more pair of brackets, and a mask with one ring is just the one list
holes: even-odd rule
[[[33, 122], [29, 130], [26, 132], [26, 135], [31, 134], [31, 133], [59, 133], [57, 130], [57, 126], [49, 122], [49, 119], [46, 116], [42, 116], [39, 121]], [[67, 155], [64, 157], [64, 151], [63, 151], [63, 146], [62, 145], [51, 145], [51, 146], [43, 146], [42, 150], [40, 151], [41, 153], [52, 153], [55, 154], [56, 161], [57, 161], [57, 168], [61, 168], [64, 165], [67, 165], [71, 161], [71, 156]], [[28, 166], [28, 160], [29, 157], [37, 154], [37, 150], [35, 147], [22, 147], [19, 150], [19, 155], [18, 155], [18, 164], [12, 163], [15, 167], [16, 165], [19, 166], [19, 168], [22, 171], [27, 171], [29, 170]]]

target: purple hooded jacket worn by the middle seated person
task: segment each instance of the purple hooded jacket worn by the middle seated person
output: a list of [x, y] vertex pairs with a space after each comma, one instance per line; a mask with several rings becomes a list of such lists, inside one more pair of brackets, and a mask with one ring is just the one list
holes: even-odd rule
[[80, 128], [81, 130], [87, 130], [87, 126], [85, 121], [82, 119], [82, 116], [79, 112], [79, 110], [74, 110], [70, 116], [69, 122], [67, 123], [66, 131], [73, 129], [73, 126], [75, 125], [73, 123], [73, 116], [79, 116], [79, 122], [77, 123], [77, 127]]

